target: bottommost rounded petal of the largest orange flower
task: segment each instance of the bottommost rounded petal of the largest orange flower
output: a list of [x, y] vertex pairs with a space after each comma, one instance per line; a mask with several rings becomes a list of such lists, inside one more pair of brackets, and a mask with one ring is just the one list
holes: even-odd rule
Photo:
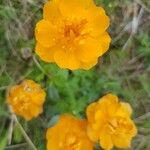
[[71, 70], [80, 68], [80, 62], [75, 57], [75, 54], [73, 52], [59, 50], [55, 52], [54, 59], [57, 65], [61, 68], [67, 68]]

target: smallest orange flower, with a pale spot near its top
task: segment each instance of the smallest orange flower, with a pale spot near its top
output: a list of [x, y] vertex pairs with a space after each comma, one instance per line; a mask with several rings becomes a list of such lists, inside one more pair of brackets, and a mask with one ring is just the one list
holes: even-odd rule
[[45, 96], [45, 91], [39, 84], [25, 80], [10, 88], [7, 102], [14, 113], [30, 120], [42, 113]]

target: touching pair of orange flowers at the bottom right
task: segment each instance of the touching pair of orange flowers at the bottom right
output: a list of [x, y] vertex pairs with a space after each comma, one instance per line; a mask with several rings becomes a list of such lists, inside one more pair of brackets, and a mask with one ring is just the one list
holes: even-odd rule
[[117, 96], [108, 94], [87, 107], [87, 120], [62, 115], [47, 131], [47, 149], [93, 150], [93, 143], [97, 142], [105, 150], [113, 146], [129, 148], [137, 134], [131, 113], [128, 103], [119, 102]]

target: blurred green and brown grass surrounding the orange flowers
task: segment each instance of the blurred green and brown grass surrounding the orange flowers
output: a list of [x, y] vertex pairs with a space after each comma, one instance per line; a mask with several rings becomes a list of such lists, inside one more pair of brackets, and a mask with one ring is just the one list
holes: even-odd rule
[[[18, 117], [38, 150], [45, 131], [61, 113], [85, 116], [85, 108], [106, 93], [133, 107], [138, 135], [132, 150], [150, 150], [150, 1], [95, 0], [111, 18], [110, 50], [89, 71], [61, 70], [34, 52], [34, 28], [44, 0], [0, 0], [0, 150], [30, 150], [6, 104], [9, 86], [33, 79], [47, 92], [44, 112], [26, 122]], [[100, 148], [95, 148], [99, 150]]]

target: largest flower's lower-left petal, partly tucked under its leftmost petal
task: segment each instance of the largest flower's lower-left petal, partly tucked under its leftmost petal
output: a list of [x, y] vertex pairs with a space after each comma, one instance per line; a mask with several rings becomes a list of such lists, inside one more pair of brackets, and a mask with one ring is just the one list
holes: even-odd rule
[[39, 57], [46, 62], [54, 62], [54, 53], [55, 53], [54, 47], [43, 47], [39, 43], [36, 44], [35, 51]]

